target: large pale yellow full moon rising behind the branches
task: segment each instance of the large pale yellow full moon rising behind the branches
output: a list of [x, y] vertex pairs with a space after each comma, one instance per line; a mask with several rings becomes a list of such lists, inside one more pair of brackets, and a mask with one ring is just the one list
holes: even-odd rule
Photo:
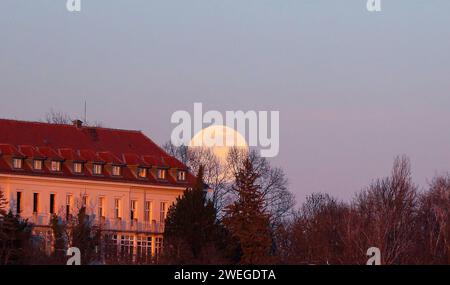
[[192, 137], [189, 147], [210, 148], [223, 164], [227, 162], [230, 148], [248, 150], [245, 138], [238, 131], [223, 125], [212, 125], [202, 129]]

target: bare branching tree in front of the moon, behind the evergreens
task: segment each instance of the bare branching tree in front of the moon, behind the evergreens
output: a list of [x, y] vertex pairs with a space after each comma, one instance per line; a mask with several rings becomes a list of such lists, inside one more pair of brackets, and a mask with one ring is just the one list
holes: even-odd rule
[[200, 165], [204, 166], [204, 181], [213, 189], [212, 200], [221, 217], [223, 209], [233, 203], [236, 193], [232, 191], [235, 175], [248, 158], [258, 172], [258, 185], [265, 201], [265, 210], [270, 213], [271, 223], [279, 223], [283, 218], [293, 214], [294, 195], [288, 190], [288, 180], [284, 171], [272, 167], [269, 161], [256, 151], [243, 148], [230, 148], [227, 161], [221, 161], [207, 147], [176, 147], [171, 142], [163, 145], [164, 150], [185, 163], [191, 172], [196, 173]]

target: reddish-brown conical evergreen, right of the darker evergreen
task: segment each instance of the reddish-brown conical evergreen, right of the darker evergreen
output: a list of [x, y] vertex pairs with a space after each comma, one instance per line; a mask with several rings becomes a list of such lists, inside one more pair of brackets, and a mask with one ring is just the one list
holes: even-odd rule
[[253, 164], [246, 159], [233, 185], [237, 200], [225, 209], [223, 222], [239, 243], [241, 264], [267, 264], [271, 259], [270, 220], [264, 210], [261, 187], [256, 184], [258, 177]]

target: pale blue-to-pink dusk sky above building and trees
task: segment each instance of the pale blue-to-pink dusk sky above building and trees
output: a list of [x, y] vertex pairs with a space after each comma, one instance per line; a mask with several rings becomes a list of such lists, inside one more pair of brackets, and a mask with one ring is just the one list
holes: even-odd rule
[[450, 170], [450, 1], [0, 2], [0, 117], [53, 108], [167, 141], [176, 110], [279, 110], [302, 201], [349, 199], [406, 154]]

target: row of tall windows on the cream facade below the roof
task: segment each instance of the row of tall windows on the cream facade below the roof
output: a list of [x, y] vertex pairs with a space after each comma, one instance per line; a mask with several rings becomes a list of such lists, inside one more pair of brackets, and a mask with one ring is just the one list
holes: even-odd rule
[[[88, 205], [88, 196], [83, 196], [82, 199], [83, 206]], [[152, 201], [145, 201], [144, 202], [144, 221], [145, 222], [151, 222], [152, 221]], [[69, 218], [72, 214], [71, 209], [73, 208], [74, 200], [72, 194], [67, 194], [66, 196], [66, 205], [65, 205], [65, 214], [66, 218]], [[49, 213], [55, 214], [55, 194], [50, 194], [49, 197]], [[106, 198], [105, 197], [99, 197], [98, 198], [98, 204], [97, 204], [97, 216], [99, 218], [105, 218], [106, 216]], [[168, 210], [168, 204], [167, 202], [160, 202], [160, 223], [164, 223], [164, 220], [166, 219]], [[17, 214], [20, 214], [22, 212], [22, 192], [17, 192], [16, 196], [16, 211]], [[115, 219], [121, 219], [122, 218], [122, 199], [115, 198], [114, 199], [114, 218]], [[40, 212], [40, 205], [39, 205], [39, 193], [33, 193], [33, 213], [39, 213]], [[138, 218], [138, 200], [131, 200], [130, 201], [130, 220], [137, 220]]]

